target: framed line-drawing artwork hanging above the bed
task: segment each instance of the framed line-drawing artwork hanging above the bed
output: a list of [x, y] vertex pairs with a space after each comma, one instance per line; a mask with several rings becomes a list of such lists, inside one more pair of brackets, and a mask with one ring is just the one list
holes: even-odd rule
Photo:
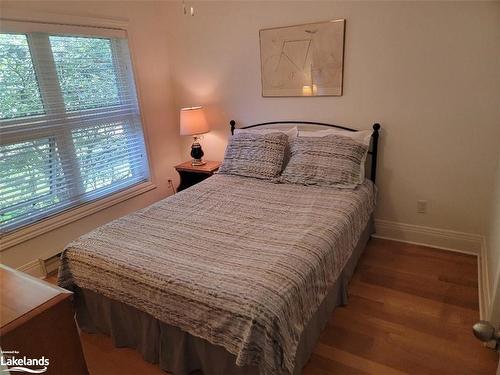
[[345, 19], [260, 30], [262, 96], [341, 96]]

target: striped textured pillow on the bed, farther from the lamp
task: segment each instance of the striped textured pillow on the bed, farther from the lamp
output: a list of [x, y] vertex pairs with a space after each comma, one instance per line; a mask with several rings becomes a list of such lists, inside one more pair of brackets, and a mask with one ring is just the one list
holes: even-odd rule
[[344, 135], [297, 137], [281, 182], [354, 188], [363, 182], [368, 146]]

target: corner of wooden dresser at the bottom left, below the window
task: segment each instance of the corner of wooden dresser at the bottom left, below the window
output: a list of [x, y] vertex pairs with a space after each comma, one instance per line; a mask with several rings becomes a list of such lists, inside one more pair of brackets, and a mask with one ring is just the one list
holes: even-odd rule
[[88, 374], [71, 296], [65, 289], [0, 264], [0, 346], [4, 357], [44, 357], [49, 360], [44, 374]]

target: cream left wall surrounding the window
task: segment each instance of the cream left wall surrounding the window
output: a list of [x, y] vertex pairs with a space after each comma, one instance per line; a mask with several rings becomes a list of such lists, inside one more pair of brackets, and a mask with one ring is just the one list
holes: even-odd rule
[[[149, 139], [151, 169], [158, 187], [148, 193], [78, 220], [60, 229], [9, 249], [2, 249], [1, 262], [19, 267], [38, 257], [52, 255], [72, 239], [114, 218], [145, 207], [163, 197], [170, 189], [169, 178], [177, 179], [173, 166], [180, 159], [178, 121], [173, 111], [170, 89], [169, 54], [165, 43], [162, 5], [154, 2], [46, 2], [2, 1], [0, 14], [10, 10], [33, 13], [58, 13], [77, 16], [118, 18], [129, 21], [129, 45], [134, 55], [137, 90], [141, 98], [145, 132]], [[64, 16], [61, 17], [64, 22]]]

